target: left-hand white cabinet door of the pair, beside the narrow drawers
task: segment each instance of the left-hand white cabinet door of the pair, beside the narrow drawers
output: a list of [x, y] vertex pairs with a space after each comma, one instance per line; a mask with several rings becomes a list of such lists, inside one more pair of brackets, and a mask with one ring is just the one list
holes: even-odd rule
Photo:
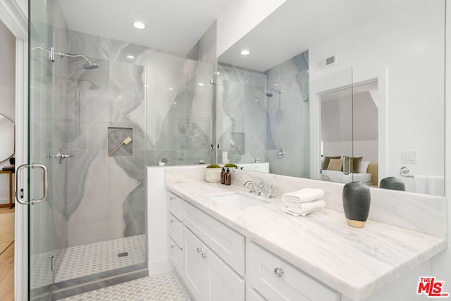
[[197, 301], [208, 300], [209, 295], [209, 262], [208, 257], [202, 256], [206, 254], [204, 250], [206, 246], [199, 238], [183, 227], [183, 279]]

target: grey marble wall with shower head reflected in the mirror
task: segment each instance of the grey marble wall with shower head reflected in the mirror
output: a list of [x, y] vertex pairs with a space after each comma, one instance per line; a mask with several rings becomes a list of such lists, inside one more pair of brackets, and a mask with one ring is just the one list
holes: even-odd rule
[[[271, 173], [309, 178], [309, 52], [266, 71], [266, 158]], [[278, 149], [285, 151], [280, 159]]]

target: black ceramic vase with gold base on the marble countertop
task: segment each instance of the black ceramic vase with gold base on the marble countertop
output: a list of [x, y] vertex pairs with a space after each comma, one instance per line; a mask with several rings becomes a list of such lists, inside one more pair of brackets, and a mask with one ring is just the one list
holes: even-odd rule
[[363, 228], [368, 219], [371, 194], [368, 185], [360, 182], [347, 183], [343, 187], [343, 209], [347, 224]]

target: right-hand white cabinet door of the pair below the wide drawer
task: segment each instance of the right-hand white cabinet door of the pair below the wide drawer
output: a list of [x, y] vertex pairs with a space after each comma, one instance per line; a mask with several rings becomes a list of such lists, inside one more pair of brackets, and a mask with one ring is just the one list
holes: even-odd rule
[[245, 281], [214, 252], [207, 249], [209, 259], [209, 301], [244, 301]]

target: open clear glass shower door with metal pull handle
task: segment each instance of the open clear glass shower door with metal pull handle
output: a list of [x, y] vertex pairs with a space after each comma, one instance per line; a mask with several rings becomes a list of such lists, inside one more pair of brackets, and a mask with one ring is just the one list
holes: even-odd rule
[[[28, 300], [51, 300], [54, 283], [54, 140], [55, 63], [44, 49], [54, 42], [49, 20], [53, 1], [29, 1], [28, 165], [18, 170], [28, 202]], [[40, 48], [37, 48], [40, 47]], [[37, 164], [42, 168], [36, 168]], [[38, 166], [39, 167], [39, 166]], [[47, 174], [44, 169], [47, 168]], [[26, 181], [26, 183], [25, 183]], [[60, 180], [61, 181], [61, 180]], [[48, 183], [48, 184], [47, 184]], [[46, 189], [47, 188], [47, 189]], [[47, 192], [45, 191], [47, 190]], [[46, 196], [47, 195], [47, 196]], [[61, 202], [62, 200], [58, 200]]]

